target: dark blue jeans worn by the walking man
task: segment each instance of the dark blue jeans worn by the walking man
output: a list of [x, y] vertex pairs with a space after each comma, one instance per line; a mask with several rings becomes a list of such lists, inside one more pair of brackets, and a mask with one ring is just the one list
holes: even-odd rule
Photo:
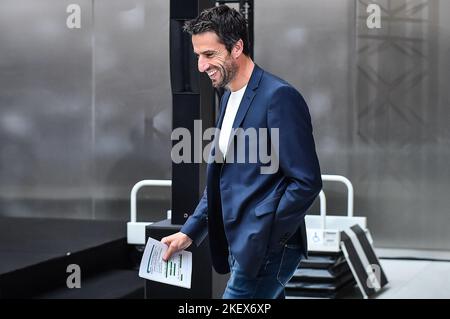
[[278, 253], [269, 253], [255, 278], [248, 277], [230, 254], [231, 276], [223, 299], [284, 299], [284, 286], [292, 278], [303, 258], [297, 245], [285, 245]]

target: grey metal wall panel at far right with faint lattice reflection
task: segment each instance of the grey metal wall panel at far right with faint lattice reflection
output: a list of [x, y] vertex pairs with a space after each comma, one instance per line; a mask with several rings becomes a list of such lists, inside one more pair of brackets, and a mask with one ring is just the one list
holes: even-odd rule
[[[383, 28], [368, 30], [357, 3], [356, 179], [378, 243], [449, 248], [448, 104], [439, 102], [443, 2], [377, 1]], [[448, 60], [448, 58], [447, 58]], [[442, 112], [443, 110], [445, 110]], [[443, 114], [444, 113], [444, 114]]]

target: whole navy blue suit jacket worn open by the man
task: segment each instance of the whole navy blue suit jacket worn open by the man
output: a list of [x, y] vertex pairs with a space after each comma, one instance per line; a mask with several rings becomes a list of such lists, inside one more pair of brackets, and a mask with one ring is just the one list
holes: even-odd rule
[[[218, 128], [229, 96], [227, 91], [221, 99]], [[300, 245], [307, 255], [304, 216], [322, 189], [322, 180], [303, 97], [290, 84], [257, 65], [233, 128], [266, 128], [269, 132], [278, 128], [279, 146], [274, 155], [279, 168], [273, 174], [261, 174], [261, 167], [269, 164], [262, 163], [259, 156], [256, 163], [251, 163], [249, 154], [245, 155], [245, 163], [209, 163], [203, 197], [181, 232], [196, 245], [209, 234], [212, 262], [218, 273], [229, 272], [231, 250], [244, 271], [254, 277], [264, 256], [281, 251], [288, 240]], [[216, 134], [215, 140], [218, 138]], [[268, 143], [273, 144], [271, 138], [269, 134]], [[229, 149], [237, 144], [236, 138], [230, 140]], [[211, 156], [215, 156], [216, 149], [217, 143]]]

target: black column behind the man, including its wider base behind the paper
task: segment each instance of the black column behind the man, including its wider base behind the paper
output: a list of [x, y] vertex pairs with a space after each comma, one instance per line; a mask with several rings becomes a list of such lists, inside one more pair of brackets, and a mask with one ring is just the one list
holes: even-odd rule
[[[146, 236], [157, 240], [180, 230], [181, 225], [194, 212], [205, 187], [206, 164], [202, 161], [202, 149], [207, 143], [201, 140], [194, 141], [194, 137], [203, 135], [203, 132], [195, 132], [194, 128], [196, 120], [201, 120], [203, 129], [214, 125], [215, 97], [211, 81], [197, 69], [191, 36], [183, 31], [183, 25], [187, 20], [195, 18], [200, 11], [213, 5], [214, 3], [205, 0], [170, 1], [172, 128], [174, 130], [184, 128], [189, 131], [191, 158], [190, 162], [172, 161], [172, 219], [147, 226]], [[177, 143], [180, 141], [173, 141], [173, 144]], [[204, 240], [199, 247], [191, 245], [188, 250], [192, 252], [191, 289], [147, 280], [145, 284], [147, 299], [215, 296], [213, 281], [217, 280], [214, 280], [208, 240]], [[223, 291], [223, 287], [220, 290]]]

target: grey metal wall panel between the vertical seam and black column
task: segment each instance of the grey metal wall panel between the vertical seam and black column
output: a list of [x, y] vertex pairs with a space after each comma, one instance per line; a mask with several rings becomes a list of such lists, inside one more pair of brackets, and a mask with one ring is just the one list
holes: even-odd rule
[[[127, 216], [117, 201], [136, 182], [171, 178], [169, 3], [96, 0], [94, 17], [94, 213]], [[169, 189], [142, 193], [170, 200]]]

